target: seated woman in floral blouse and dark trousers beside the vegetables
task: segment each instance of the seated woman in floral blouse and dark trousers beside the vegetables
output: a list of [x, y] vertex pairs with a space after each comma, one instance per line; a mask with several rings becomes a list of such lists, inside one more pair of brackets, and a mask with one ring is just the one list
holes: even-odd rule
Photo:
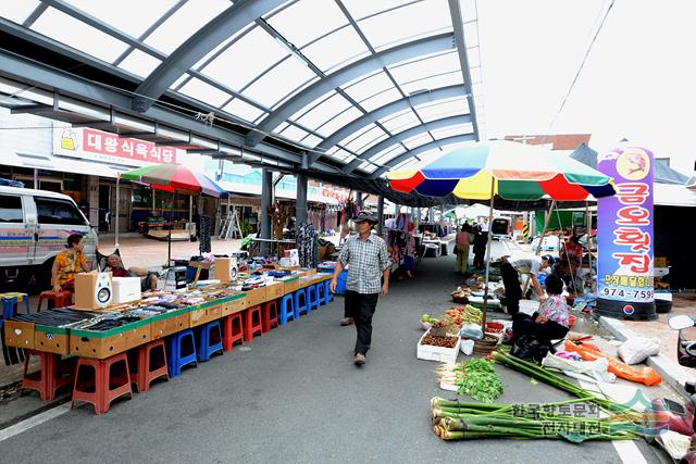
[[556, 275], [546, 277], [546, 292], [548, 298], [539, 305], [539, 310], [532, 316], [518, 313], [512, 317], [512, 333], [514, 338], [533, 335], [540, 342], [548, 342], [566, 337], [569, 330], [568, 304], [563, 292], [563, 280]]

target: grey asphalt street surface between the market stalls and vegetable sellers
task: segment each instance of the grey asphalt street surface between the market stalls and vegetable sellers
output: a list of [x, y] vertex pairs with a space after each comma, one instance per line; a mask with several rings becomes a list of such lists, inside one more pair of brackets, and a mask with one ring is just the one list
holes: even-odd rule
[[[494, 256], [501, 252], [494, 242]], [[113, 403], [107, 414], [83, 405], [8, 438], [0, 442], [0, 462], [622, 462], [610, 442], [444, 442], [433, 434], [430, 399], [453, 393], [438, 388], [436, 363], [415, 359], [419, 317], [451, 305], [449, 292], [459, 281], [452, 271], [451, 255], [423, 259], [417, 279], [393, 283], [377, 304], [362, 368], [352, 364], [355, 328], [338, 325], [337, 298], [245, 350], [235, 347]], [[501, 402], [569, 399], [497, 369]], [[35, 396], [16, 401], [40, 403]], [[645, 462], [664, 462], [659, 451], [635, 443]]]

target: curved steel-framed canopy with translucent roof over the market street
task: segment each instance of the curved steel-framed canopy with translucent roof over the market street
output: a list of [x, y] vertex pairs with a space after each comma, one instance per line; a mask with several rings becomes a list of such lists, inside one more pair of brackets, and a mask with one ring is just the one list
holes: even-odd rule
[[376, 177], [482, 137], [474, 0], [17, 0], [0, 40], [14, 112], [257, 165]]

